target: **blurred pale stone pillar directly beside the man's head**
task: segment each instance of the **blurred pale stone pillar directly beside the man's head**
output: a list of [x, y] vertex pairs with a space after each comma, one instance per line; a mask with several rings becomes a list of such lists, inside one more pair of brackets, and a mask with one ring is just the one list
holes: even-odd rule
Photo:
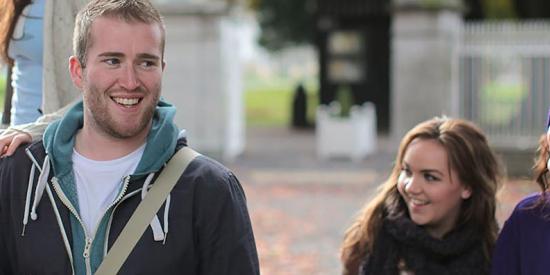
[[189, 145], [231, 160], [244, 150], [239, 21], [224, 1], [167, 1], [163, 96]]

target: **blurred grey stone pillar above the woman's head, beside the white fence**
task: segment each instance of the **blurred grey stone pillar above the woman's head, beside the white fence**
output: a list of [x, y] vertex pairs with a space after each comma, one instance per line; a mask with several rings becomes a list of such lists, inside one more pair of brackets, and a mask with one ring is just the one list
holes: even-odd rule
[[434, 116], [457, 116], [459, 0], [394, 1], [391, 136]]

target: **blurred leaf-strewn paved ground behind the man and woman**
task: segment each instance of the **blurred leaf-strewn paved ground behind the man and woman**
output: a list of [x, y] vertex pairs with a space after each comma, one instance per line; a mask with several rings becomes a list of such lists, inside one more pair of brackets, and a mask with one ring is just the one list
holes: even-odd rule
[[[382, 138], [379, 148], [360, 162], [321, 161], [313, 131], [248, 129], [245, 154], [227, 165], [248, 197], [262, 274], [340, 273], [344, 230], [392, 165], [391, 145]], [[509, 181], [499, 194], [499, 221], [533, 190]]]

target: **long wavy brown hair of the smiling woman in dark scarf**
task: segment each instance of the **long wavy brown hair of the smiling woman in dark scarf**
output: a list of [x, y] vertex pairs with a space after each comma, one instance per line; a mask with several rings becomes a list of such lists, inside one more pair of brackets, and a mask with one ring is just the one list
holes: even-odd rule
[[376, 249], [374, 240], [386, 210], [401, 201], [397, 179], [409, 144], [416, 139], [436, 140], [447, 151], [449, 167], [460, 181], [471, 188], [472, 196], [462, 204], [458, 226], [473, 226], [483, 236], [487, 261], [495, 244], [498, 223], [495, 218], [496, 191], [501, 180], [501, 166], [489, 147], [487, 138], [473, 123], [450, 118], [434, 118], [411, 129], [401, 140], [394, 167], [377, 195], [367, 202], [345, 233], [341, 248], [344, 274], [357, 274], [368, 251]]

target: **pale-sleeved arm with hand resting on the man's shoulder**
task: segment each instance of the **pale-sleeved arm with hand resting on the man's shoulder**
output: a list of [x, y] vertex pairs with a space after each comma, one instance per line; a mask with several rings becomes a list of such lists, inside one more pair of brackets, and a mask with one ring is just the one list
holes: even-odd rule
[[0, 157], [11, 156], [22, 144], [41, 139], [50, 122], [63, 117], [72, 105], [73, 103], [67, 104], [56, 112], [43, 115], [35, 122], [10, 126], [4, 130], [0, 134]]

